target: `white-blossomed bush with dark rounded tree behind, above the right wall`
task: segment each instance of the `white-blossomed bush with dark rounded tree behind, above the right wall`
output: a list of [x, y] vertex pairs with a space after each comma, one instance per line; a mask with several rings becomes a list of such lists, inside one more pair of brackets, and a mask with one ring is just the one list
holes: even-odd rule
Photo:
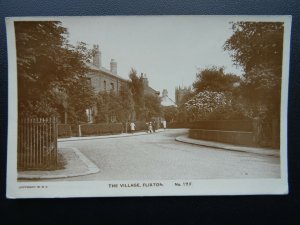
[[223, 67], [199, 71], [193, 83], [194, 91], [179, 106], [177, 121], [243, 118], [236, 107], [240, 83], [239, 76], [225, 74]]

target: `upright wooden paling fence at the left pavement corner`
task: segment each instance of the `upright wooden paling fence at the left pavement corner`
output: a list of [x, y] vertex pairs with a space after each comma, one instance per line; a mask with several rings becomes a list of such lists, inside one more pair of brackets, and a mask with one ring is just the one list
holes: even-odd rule
[[57, 119], [20, 118], [18, 123], [18, 169], [57, 167]]

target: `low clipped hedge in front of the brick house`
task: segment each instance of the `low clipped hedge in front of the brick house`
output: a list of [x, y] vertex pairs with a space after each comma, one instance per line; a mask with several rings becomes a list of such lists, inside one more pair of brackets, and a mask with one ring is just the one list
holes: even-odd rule
[[82, 124], [81, 135], [103, 135], [122, 133], [122, 123], [99, 123], [99, 124]]

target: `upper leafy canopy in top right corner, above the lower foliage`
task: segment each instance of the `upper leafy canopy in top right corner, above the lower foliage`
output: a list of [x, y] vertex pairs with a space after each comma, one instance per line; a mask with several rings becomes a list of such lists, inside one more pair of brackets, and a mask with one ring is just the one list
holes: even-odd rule
[[246, 73], [264, 63], [280, 69], [283, 29], [281, 22], [232, 23], [234, 33], [225, 42], [224, 50], [231, 52], [236, 65], [242, 66]]

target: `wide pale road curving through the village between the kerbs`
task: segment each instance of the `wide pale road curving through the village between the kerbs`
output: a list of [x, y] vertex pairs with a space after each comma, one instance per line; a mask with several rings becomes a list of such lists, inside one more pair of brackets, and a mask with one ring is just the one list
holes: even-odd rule
[[185, 130], [110, 139], [60, 142], [78, 148], [97, 174], [65, 180], [278, 178], [280, 159], [175, 141]]

